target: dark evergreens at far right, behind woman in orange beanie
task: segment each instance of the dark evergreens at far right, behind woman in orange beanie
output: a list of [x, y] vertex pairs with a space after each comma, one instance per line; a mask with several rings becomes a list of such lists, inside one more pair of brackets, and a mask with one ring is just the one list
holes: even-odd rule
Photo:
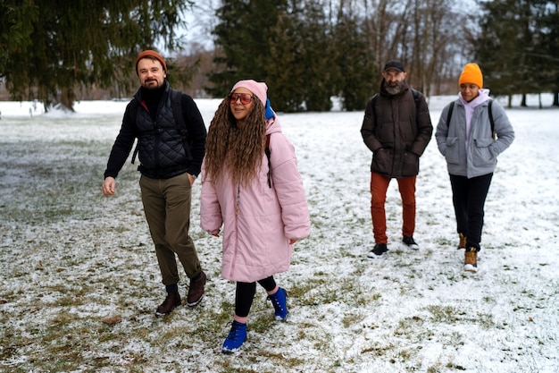
[[481, 3], [475, 57], [497, 96], [553, 92], [559, 106], [559, 1], [498, 0]]

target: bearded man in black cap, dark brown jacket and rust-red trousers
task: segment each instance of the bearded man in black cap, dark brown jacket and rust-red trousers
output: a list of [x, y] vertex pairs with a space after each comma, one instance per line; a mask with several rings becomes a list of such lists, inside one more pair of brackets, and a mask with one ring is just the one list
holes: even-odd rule
[[361, 135], [372, 151], [371, 218], [374, 248], [370, 258], [388, 251], [385, 202], [388, 184], [396, 178], [402, 197], [402, 242], [413, 250], [415, 230], [415, 179], [419, 158], [429, 144], [433, 126], [425, 97], [410, 89], [405, 81], [404, 64], [385, 64], [380, 94], [371, 98], [365, 109]]

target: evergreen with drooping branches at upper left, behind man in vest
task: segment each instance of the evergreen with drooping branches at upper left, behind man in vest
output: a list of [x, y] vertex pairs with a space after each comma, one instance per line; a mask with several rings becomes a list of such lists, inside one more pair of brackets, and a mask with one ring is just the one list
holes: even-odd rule
[[79, 87], [127, 90], [138, 52], [178, 47], [185, 0], [4, 0], [0, 77], [13, 99], [71, 108]]

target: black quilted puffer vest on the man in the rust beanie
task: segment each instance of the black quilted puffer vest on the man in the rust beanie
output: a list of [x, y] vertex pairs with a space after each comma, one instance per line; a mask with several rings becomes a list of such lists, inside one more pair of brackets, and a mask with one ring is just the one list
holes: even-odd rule
[[184, 174], [188, 169], [188, 158], [171, 107], [171, 89], [163, 92], [155, 121], [142, 104], [140, 91], [138, 100], [136, 130], [138, 136], [138, 170], [147, 177], [168, 179]]

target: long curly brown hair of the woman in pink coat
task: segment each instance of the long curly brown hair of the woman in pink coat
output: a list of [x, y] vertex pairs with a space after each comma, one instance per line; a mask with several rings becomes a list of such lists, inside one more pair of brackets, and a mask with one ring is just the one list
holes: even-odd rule
[[243, 128], [231, 113], [229, 99], [225, 98], [213, 116], [205, 140], [205, 174], [215, 184], [229, 172], [235, 184], [247, 186], [258, 174], [266, 140], [264, 106], [254, 97], [254, 106], [246, 116]]

